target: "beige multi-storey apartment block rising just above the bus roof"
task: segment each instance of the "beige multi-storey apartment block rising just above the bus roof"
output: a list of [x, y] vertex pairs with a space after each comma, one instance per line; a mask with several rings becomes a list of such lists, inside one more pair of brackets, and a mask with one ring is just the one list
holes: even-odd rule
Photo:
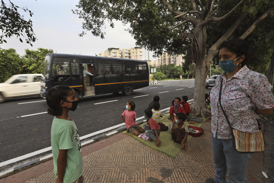
[[126, 59], [136, 59], [142, 60], [142, 47], [132, 47], [132, 48], [108, 48], [106, 51], [101, 51], [99, 54], [101, 57], [115, 57], [115, 58], [126, 58]]

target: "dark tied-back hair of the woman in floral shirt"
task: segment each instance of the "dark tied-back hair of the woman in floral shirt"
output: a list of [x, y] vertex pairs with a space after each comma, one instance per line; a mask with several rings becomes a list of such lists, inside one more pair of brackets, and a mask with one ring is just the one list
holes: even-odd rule
[[229, 41], [224, 41], [219, 46], [221, 48], [227, 48], [229, 51], [236, 53], [236, 58], [245, 55], [245, 59], [241, 62], [242, 67], [247, 65], [251, 61], [251, 52], [247, 43], [243, 39], [231, 39]]

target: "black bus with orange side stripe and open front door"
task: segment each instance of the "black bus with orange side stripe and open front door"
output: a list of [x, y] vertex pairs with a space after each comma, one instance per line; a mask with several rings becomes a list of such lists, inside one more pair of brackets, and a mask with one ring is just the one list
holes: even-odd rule
[[[92, 77], [84, 74], [87, 70]], [[73, 88], [77, 99], [119, 92], [130, 95], [149, 85], [149, 67], [144, 60], [50, 53], [45, 56], [41, 98], [57, 85]]]

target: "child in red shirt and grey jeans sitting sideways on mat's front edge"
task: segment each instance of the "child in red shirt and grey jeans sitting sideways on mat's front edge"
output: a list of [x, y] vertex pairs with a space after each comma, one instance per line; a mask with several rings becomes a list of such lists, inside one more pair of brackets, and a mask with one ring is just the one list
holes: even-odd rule
[[149, 109], [145, 110], [145, 119], [148, 120], [148, 124], [144, 124], [143, 128], [145, 130], [146, 136], [149, 137], [148, 141], [154, 140], [156, 142], [156, 147], [161, 146], [161, 141], [159, 140], [160, 135], [160, 126], [158, 123], [152, 118], [152, 111]]

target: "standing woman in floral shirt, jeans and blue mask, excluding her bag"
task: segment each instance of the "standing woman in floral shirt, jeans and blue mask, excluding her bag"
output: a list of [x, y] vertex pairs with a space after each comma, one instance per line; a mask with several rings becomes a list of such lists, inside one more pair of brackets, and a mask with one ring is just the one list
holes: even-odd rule
[[242, 39], [220, 45], [219, 66], [225, 72], [217, 77], [210, 92], [215, 182], [226, 182], [226, 174], [229, 182], [247, 182], [247, 161], [253, 155], [233, 147], [231, 130], [218, 101], [222, 79], [221, 105], [232, 128], [255, 133], [259, 130], [256, 114], [271, 114], [274, 107], [272, 86], [265, 75], [248, 69], [249, 61], [249, 48]]

